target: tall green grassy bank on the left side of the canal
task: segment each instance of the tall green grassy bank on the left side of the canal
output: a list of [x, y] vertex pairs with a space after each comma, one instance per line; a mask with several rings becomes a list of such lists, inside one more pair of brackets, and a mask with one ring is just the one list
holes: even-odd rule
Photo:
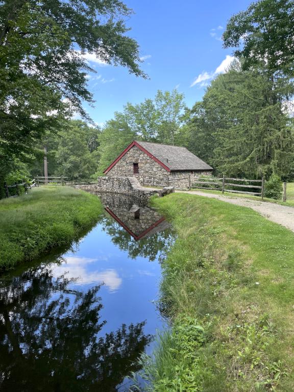
[[40, 187], [0, 201], [0, 269], [69, 244], [102, 211], [97, 197], [69, 187]]

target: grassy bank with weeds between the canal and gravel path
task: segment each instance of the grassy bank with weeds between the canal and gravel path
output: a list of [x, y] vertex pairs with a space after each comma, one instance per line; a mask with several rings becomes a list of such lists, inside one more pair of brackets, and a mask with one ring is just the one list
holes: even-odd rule
[[294, 234], [251, 209], [189, 194], [153, 200], [178, 238], [163, 262], [158, 392], [294, 390]]

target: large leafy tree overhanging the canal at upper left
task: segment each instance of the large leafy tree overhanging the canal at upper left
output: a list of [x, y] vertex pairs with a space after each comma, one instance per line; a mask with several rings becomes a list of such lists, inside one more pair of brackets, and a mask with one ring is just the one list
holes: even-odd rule
[[126, 35], [131, 10], [119, 0], [0, 2], [0, 182], [35, 153], [45, 132], [92, 104], [85, 59], [122, 65], [137, 76], [138, 44]]

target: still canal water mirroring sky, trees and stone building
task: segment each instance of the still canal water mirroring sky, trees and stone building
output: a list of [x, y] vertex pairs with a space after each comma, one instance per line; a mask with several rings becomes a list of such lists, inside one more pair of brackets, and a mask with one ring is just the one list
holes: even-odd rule
[[0, 277], [0, 391], [125, 391], [152, 353], [174, 235], [136, 200], [101, 200], [99, 222], [70, 249]]

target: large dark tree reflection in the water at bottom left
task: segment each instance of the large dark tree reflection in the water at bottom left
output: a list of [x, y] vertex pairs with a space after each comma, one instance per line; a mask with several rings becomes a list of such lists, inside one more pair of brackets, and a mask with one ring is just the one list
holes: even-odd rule
[[[0, 389], [115, 391], [151, 336], [144, 323], [97, 338], [100, 286], [71, 289], [50, 268], [31, 268], [0, 287]], [[5, 285], [6, 283], [6, 285]], [[8, 283], [8, 284], [7, 284]], [[77, 286], [76, 286], [77, 287]]]

